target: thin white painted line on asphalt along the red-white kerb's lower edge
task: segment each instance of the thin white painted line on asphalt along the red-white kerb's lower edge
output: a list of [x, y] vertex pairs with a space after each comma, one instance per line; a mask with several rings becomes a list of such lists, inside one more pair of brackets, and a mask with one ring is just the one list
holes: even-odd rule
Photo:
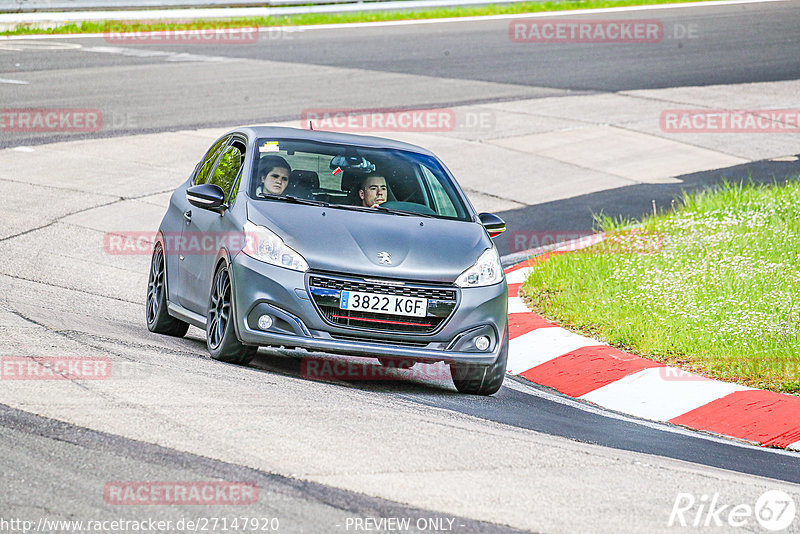
[[[686, 428], [675, 426], [670, 423], [658, 423], [655, 421], [647, 421], [645, 419], [638, 419], [636, 417], [631, 417], [623, 413], [612, 412], [606, 410], [605, 408], [601, 408], [600, 406], [594, 406], [592, 404], [588, 404], [585, 401], [581, 401], [572, 397], [567, 397], [566, 395], [562, 395], [560, 393], [552, 393], [550, 391], [539, 389], [535, 384], [532, 384], [531, 382], [525, 380], [522, 377], [507, 376], [505, 381], [503, 382], [503, 387], [513, 389], [514, 391], [519, 391], [520, 393], [524, 393], [532, 397], [539, 397], [549, 402], [555, 402], [563, 406], [569, 406], [571, 408], [575, 408], [577, 410], [581, 410], [586, 413], [599, 415], [600, 417], [607, 417], [608, 419], [616, 419], [617, 421], [633, 423], [635, 425], [652, 428], [654, 430], [669, 432], [670, 434], [679, 434], [682, 436], [702, 439], [705, 441], [712, 441], [714, 443], [724, 443], [732, 447], [741, 447], [743, 449], [759, 450], [762, 451], [764, 454], [778, 454], [781, 456], [790, 456], [792, 458], [800, 457], [800, 455], [798, 455], [796, 452], [787, 451], [784, 449], [761, 447], [759, 445], [753, 445], [752, 443], [747, 443], [746, 441], [738, 440], [736, 438], [723, 438], [720, 436], [715, 436], [713, 434], [706, 434], [703, 432], [699, 432], [697, 430], [688, 430]], [[794, 445], [800, 447], [800, 442]]]

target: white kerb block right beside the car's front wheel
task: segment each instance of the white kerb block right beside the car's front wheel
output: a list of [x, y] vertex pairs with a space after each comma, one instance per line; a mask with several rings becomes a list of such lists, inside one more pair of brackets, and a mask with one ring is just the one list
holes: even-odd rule
[[508, 342], [506, 369], [518, 375], [573, 350], [596, 345], [605, 343], [557, 326], [537, 328]]

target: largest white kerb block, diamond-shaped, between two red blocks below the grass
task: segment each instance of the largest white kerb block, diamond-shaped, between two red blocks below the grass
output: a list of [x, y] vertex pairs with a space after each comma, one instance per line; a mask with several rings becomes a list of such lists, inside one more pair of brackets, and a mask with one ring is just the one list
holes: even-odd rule
[[748, 389], [752, 388], [710, 380], [675, 367], [653, 367], [590, 391], [580, 399], [645, 419], [669, 421]]

